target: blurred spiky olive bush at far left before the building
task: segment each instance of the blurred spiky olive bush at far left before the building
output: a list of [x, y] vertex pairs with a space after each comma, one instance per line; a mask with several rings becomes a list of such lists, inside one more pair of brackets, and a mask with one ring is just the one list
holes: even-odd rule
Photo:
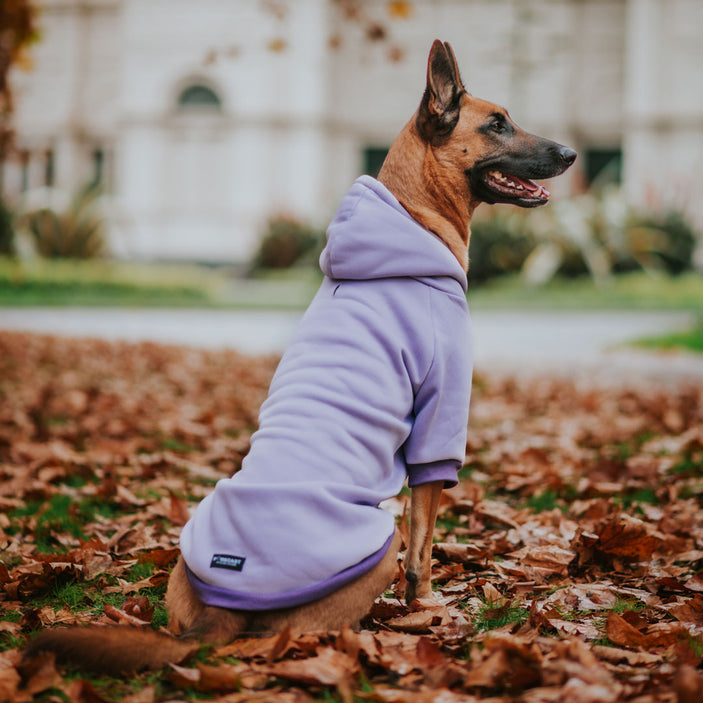
[[82, 189], [68, 208], [56, 212], [39, 208], [22, 218], [40, 256], [57, 259], [93, 259], [106, 253], [105, 221], [97, 212], [98, 192]]

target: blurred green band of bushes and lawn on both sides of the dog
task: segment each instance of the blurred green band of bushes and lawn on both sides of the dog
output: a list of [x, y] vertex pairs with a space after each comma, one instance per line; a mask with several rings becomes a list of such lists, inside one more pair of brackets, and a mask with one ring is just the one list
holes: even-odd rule
[[[0, 203], [0, 304], [304, 308], [319, 285], [324, 232], [290, 215], [264, 224], [248, 265], [130, 263], [110, 258], [98, 191], [44, 196], [22, 212]], [[535, 211], [481, 208], [471, 231], [472, 304], [637, 308], [646, 301], [703, 315], [699, 235], [680, 212], [633, 209], [615, 186]]]

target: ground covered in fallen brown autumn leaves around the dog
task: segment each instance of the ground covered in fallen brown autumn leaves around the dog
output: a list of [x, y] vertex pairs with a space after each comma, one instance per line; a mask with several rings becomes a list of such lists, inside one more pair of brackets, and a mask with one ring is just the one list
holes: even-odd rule
[[[433, 576], [360, 632], [87, 677], [32, 632], [161, 627], [188, 510], [236, 471], [273, 358], [0, 333], [0, 700], [703, 700], [703, 389], [476, 379]], [[407, 496], [389, 501], [407, 529]], [[262, 516], [262, 520], [266, 516]]]

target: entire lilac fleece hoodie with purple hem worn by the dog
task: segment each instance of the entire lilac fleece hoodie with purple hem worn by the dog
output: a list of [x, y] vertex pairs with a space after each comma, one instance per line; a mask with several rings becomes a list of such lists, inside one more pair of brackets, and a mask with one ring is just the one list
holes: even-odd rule
[[325, 279], [274, 375], [242, 469], [183, 529], [209, 605], [292, 607], [384, 556], [410, 486], [456, 483], [471, 387], [466, 274], [378, 181], [327, 230]]

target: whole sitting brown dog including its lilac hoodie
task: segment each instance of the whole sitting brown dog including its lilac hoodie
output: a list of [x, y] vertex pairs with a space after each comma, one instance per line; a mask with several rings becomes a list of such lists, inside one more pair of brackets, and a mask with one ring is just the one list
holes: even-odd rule
[[532, 179], [576, 152], [470, 95], [448, 43], [432, 45], [415, 115], [377, 179], [345, 196], [325, 279], [286, 350], [240, 472], [184, 527], [166, 633], [57, 628], [25, 651], [106, 673], [158, 668], [194, 643], [358, 625], [398, 571], [378, 507], [411, 487], [406, 599], [432, 599], [441, 491], [464, 459], [471, 387], [469, 225], [480, 203], [544, 205]]

